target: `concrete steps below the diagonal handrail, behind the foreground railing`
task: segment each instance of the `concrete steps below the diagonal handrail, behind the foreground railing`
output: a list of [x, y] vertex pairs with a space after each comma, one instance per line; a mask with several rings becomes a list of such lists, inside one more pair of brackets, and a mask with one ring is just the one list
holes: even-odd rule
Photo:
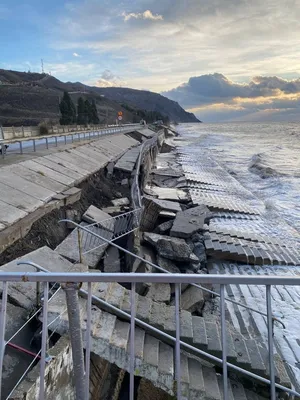
[[[49, 303], [49, 317], [57, 316], [58, 304], [65, 307], [63, 293]], [[127, 296], [124, 296], [126, 300]], [[85, 314], [86, 301], [81, 299], [82, 315]], [[55, 312], [54, 312], [55, 310]], [[85, 333], [85, 322], [82, 328]], [[67, 314], [62, 316], [62, 323], [51, 324], [61, 335], [68, 331]], [[129, 371], [130, 365], [130, 322], [121, 320], [116, 315], [92, 308], [91, 351], [116, 364], [120, 369]], [[85, 337], [85, 336], [83, 336]], [[144, 329], [135, 329], [135, 375], [143, 377], [170, 395], [176, 395], [175, 384], [175, 349], [173, 346], [150, 335]], [[181, 390], [182, 399], [189, 400], [222, 400], [222, 376], [214, 366], [191, 354], [181, 352]], [[228, 380], [230, 400], [266, 400], [265, 397], [244, 388], [238, 381]]]

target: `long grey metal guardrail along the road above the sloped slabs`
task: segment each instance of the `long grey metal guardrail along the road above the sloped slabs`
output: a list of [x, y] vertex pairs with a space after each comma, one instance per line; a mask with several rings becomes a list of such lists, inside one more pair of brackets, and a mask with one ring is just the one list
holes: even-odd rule
[[[1, 145], [1, 154], [2, 158], [10, 154], [15, 154], [15, 151], [18, 149], [20, 154], [23, 154], [24, 149], [30, 149], [33, 152], [37, 151], [38, 146], [43, 146], [46, 149], [49, 149], [49, 146], [53, 144], [55, 147], [58, 147], [59, 144], [70, 144], [74, 142], [80, 142], [84, 140], [95, 140], [100, 136], [111, 135], [115, 133], [122, 132], [130, 132], [132, 128], [138, 126], [138, 124], [132, 125], [124, 125], [124, 126], [115, 126], [108, 127], [103, 129], [91, 130], [91, 131], [79, 131], [79, 132], [70, 132], [70, 133], [59, 133], [47, 136], [35, 136], [35, 137], [25, 137], [21, 139], [4, 139], [0, 141]], [[130, 128], [132, 127], [132, 128]], [[5, 148], [5, 145], [9, 146], [9, 149]], [[17, 149], [14, 146], [17, 146]], [[12, 149], [13, 147], [13, 149]]]

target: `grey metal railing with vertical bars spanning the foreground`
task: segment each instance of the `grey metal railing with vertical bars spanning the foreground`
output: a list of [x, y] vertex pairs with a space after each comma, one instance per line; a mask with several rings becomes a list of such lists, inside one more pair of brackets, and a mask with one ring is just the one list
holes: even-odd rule
[[[31, 263], [29, 263], [31, 264]], [[2, 305], [0, 314], [0, 382], [2, 379], [2, 366], [3, 357], [6, 342], [5, 338], [5, 319], [7, 310], [7, 300], [9, 294], [9, 285], [11, 282], [41, 282], [44, 285], [43, 288], [43, 299], [48, 299], [49, 295], [49, 283], [57, 282], [61, 284], [66, 293], [66, 306], [67, 308], [73, 310], [73, 312], [68, 312], [69, 315], [69, 327], [70, 327], [70, 337], [73, 349], [73, 368], [75, 373], [75, 386], [77, 399], [83, 400], [88, 399], [89, 393], [89, 364], [90, 364], [90, 349], [91, 349], [91, 304], [97, 299], [96, 296], [92, 294], [91, 284], [94, 282], [119, 282], [119, 283], [131, 283], [131, 312], [126, 314], [130, 318], [130, 341], [129, 341], [129, 362], [126, 369], [130, 373], [130, 400], [134, 398], [134, 374], [137, 373], [135, 370], [135, 327], [138, 323], [147, 325], [142, 321], [135, 318], [136, 316], [136, 303], [135, 303], [135, 285], [136, 283], [172, 283], [175, 285], [175, 326], [176, 326], [176, 337], [167, 335], [166, 333], [159, 331], [156, 328], [153, 330], [158, 331], [161, 335], [164, 335], [166, 339], [171, 340], [175, 346], [175, 376], [174, 381], [176, 388], [176, 396], [178, 400], [181, 400], [182, 390], [181, 390], [181, 351], [193, 350], [198, 352], [199, 356], [205, 355], [212, 362], [219, 363], [222, 366], [223, 374], [223, 399], [228, 400], [228, 369], [233, 371], [243, 373], [244, 375], [254, 379], [263, 384], [270, 385], [270, 399], [276, 399], [276, 391], [280, 390], [286, 392], [290, 395], [300, 397], [300, 393], [293, 389], [289, 389], [275, 382], [275, 366], [274, 366], [274, 339], [272, 330], [272, 286], [280, 285], [290, 285], [290, 286], [300, 286], [300, 277], [295, 278], [284, 276], [232, 276], [232, 275], [199, 275], [199, 274], [132, 274], [132, 273], [121, 273], [121, 274], [99, 274], [99, 273], [35, 273], [35, 272], [5, 272], [0, 273], [0, 280], [3, 282], [2, 287]], [[74, 313], [76, 309], [76, 302], [78, 302], [78, 289], [82, 283], [88, 284], [87, 295], [87, 310], [86, 310], [86, 368], [84, 370], [83, 363], [83, 341], [81, 337], [81, 327], [79, 321], [79, 309], [78, 313]], [[181, 284], [213, 284], [220, 286], [220, 314], [221, 314], [221, 343], [222, 343], [222, 359], [212, 356], [209, 353], [205, 353], [202, 350], [195, 349], [193, 346], [181, 340], [181, 326], [180, 326], [180, 285]], [[226, 285], [262, 285], [266, 288], [266, 305], [267, 305], [267, 327], [268, 327], [268, 352], [269, 352], [269, 372], [270, 379], [263, 378], [259, 375], [251, 373], [244, 370], [236, 365], [233, 365], [227, 361], [228, 358], [228, 346], [227, 346], [227, 327], [225, 320], [225, 287]], [[51, 299], [50, 299], [51, 301]], [[101, 300], [100, 300], [101, 301]], [[48, 331], [48, 303], [49, 301], [43, 301], [42, 315], [43, 315], [43, 328], [42, 328], [42, 345], [41, 345], [41, 358], [40, 358], [40, 379], [39, 379], [39, 399], [45, 398], [45, 363], [47, 361], [47, 331]], [[77, 315], [77, 321], [72, 320], [74, 314]], [[78, 326], [79, 324], [79, 326]], [[78, 334], [80, 329], [80, 334]], [[76, 335], [75, 335], [76, 333]], [[80, 346], [79, 346], [80, 345]], [[51, 363], [51, 361], [50, 361]], [[80, 375], [81, 374], [81, 375]]]

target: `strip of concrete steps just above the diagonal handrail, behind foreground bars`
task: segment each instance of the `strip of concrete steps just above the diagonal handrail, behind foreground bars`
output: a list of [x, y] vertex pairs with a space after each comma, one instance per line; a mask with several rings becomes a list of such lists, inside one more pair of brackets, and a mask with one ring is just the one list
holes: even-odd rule
[[[130, 313], [130, 291], [118, 283], [99, 283], [93, 290], [98, 297]], [[136, 315], [167, 334], [176, 336], [175, 306], [155, 302], [136, 294]], [[268, 376], [267, 349], [258, 347], [254, 339], [248, 339], [235, 331], [227, 322], [228, 361], [259, 375]], [[186, 310], [180, 315], [181, 340], [192, 346], [222, 358], [221, 326], [218, 318], [192, 316]], [[163, 340], [163, 337], [161, 337]], [[289, 378], [283, 362], [276, 358], [277, 381], [289, 386]], [[280, 378], [280, 379], [279, 379]]]

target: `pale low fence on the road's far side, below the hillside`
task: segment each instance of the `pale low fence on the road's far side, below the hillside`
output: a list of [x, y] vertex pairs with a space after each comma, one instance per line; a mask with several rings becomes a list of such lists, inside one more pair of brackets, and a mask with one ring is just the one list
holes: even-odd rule
[[[137, 124], [126, 124], [126, 126]], [[105, 127], [114, 127], [115, 125], [55, 125], [48, 127], [50, 136], [63, 135], [74, 132], [97, 131]], [[1, 135], [2, 131], [2, 135]], [[38, 126], [19, 126], [19, 127], [0, 127], [0, 138], [4, 140], [24, 139], [29, 137], [40, 136], [40, 128]]]

